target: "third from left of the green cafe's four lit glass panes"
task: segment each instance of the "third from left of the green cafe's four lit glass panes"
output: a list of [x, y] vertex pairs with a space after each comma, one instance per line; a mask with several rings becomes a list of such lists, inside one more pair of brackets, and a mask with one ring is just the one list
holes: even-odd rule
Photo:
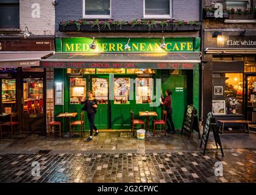
[[114, 79], [114, 102], [115, 104], [129, 103], [130, 79], [115, 78]]

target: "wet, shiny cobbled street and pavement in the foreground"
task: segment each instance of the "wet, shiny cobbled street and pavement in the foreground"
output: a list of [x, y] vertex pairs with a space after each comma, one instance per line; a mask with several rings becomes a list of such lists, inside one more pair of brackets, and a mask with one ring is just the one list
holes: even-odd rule
[[[0, 182], [256, 182], [256, 133], [220, 137], [224, 157], [212, 135], [202, 155], [196, 133], [137, 140], [129, 132], [102, 132], [90, 143], [39, 135], [2, 139]], [[32, 163], [40, 176], [32, 176]], [[215, 176], [220, 165], [223, 175]]]

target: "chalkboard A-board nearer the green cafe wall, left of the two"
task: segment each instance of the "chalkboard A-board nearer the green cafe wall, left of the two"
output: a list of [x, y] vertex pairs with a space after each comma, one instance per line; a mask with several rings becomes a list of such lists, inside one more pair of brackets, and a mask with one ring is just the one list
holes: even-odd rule
[[187, 105], [184, 113], [183, 124], [181, 134], [183, 130], [190, 133], [193, 133], [193, 130], [198, 132], [198, 136], [200, 139], [200, 130], [199, 130], [199, 119], [197, 116], [197, 110], [193, 105]]

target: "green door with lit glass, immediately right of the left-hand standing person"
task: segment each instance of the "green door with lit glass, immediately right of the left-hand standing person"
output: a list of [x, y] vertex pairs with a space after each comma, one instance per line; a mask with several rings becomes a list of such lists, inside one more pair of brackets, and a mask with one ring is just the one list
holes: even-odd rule
[[[94, 119], [94, 124], [98, 129], [110, 128], [110, 102], [108, 100], [108, 76], [91, 77], [90, 89], [94, 97], [98, 100], [98, 109]], [[90, 126], [88, 124], [88, 128]]]

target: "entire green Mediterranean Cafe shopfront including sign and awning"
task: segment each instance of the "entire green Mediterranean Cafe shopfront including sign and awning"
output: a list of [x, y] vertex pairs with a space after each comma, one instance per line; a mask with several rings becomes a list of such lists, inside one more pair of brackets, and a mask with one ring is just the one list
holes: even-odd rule
[[[200, 38], [56, 38], [56, 52], [41, 62], [54, 68], [54, 115], [76, 112], [88, 90], [98, 99], [98, 129], [130, 129], [130, 110], [155, 111], [160, 119], [161, 92], [172, 90], [173, 118], [181, 129], [187, 104], [199, 110]], [[141, 117], [140, 119], [146, 118]], [[71, 119], [73, 120], [73, 119]], [[64, 128], [65, 121], [62, 121]], [[89, 123], [85, 117], [85, 129]]]

